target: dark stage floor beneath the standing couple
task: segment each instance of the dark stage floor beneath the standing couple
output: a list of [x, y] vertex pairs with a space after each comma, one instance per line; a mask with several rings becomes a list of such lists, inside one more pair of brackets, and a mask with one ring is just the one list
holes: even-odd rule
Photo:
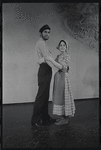
[[[3, 105], [3, 148], [99, 148], [99, 100], [75, 101], [68, 125], [31, 127], [33, 104]], [[52, 118], [52, 103], [49, 102]]]

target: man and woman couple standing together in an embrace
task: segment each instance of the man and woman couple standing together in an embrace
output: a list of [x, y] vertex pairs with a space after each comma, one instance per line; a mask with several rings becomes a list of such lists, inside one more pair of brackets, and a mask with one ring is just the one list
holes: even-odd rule
[[[46, 44], [50, 31], [51, 28], [48, 25], [40, 28], [40, 39], [35, 47], [39, 64], [38, 93], [33, 107], [31, 124], [38, 127], [51, 122], [55, 122], [56, 125], [68, 124], [69, 117], [74, 116], [75, 113], [75, 104], [68, 73], [70, 61], [70, 56], [68, 55], [69, 46], [64, 40], [61, 40], [57, 46], [60, 54], [54, 60]], [[48, 114], [48, 100], [52, 78], [50, 62], [58, 68], [54, 75], [53, 84], [53, 114], [61, 116], [58, 120], [52, 119]]]

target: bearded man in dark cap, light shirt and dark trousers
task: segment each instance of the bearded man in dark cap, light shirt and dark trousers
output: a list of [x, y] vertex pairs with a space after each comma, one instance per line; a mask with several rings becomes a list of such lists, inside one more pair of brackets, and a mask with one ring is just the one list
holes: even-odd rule
[[36, 43], [35, 50], [38, 57], [38, 93], [35, 99], [33, 115], [31, 119], [32, 126], [44, 126], [49, 122], [55, 121], [48, 114], [48, 99], [50, 91], [50, 82], [52, 77], [52, 68], [49, 61], [58, 69], [62, 66], [53, 60], [48, 50], [46, 41], [49, 39], [51, 28], [44, 25], [40, 30], [40, 39]]

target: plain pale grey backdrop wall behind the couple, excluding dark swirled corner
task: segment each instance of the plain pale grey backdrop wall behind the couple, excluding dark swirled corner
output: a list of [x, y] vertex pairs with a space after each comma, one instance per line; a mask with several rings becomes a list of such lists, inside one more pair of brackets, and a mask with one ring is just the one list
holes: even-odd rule
[[[3, 21], [3, 103], [34, 102], [37, 93], [35, 43], [39, 28], [51, 27], [47, 44], [53, 58], [59, 54], [56, 46], [68, 41], [71, 56], [70, 81], [74, 99], [99, 97], [99, 62], [96, 49], [80, 42], [63, 26], [66, 18], [55, 3], [5, 3]], [[60, 6], [59, 6], [60, 7]], [[60, 9], [60, 8], [59, 8]], [[53, 67], [53, 76], [57, 70]], [[50, 86], [52, 101], [53, 77]]]

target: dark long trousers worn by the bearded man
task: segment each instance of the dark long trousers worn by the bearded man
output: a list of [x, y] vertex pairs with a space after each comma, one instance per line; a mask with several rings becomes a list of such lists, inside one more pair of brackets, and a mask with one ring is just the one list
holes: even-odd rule
[[38, 70], [38, 93], [36, 95], [31, 124], [45, 122], [48, 120], [48, 100], [50, 93], [50, 82], [52, 68], [47, 63], [40, 64]]

